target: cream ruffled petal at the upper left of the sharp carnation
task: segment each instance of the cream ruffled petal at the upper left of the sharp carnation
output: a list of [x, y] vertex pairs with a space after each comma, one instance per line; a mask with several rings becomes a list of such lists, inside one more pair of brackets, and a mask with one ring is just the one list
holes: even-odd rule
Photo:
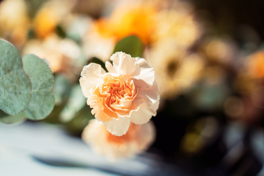
[[83, 67], [81, 72], [81, 78], [79, 79], [82, 92], [84, 97], [88, 98], [91, 96], [90, 90], [92, 87], [97, 85], [97, 79], [100, 78], [101, 74], [105, 74], [105, 70], [101, 67], [101, 65], [96, 63], [90, 63]]

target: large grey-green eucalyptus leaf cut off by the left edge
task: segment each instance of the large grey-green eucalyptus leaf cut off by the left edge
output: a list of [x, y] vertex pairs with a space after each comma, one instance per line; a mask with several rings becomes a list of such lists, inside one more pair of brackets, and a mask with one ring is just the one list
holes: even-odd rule
[[21, 56], [14, 45], [0, 40], [0, 109], [10, 115], [26, 110], [31, 99], [31, 83], [23, 70]]

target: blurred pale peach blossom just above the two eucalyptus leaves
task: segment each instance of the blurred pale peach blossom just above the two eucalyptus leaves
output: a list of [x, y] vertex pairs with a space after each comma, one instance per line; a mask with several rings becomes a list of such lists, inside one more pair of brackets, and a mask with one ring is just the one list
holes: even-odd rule
[[74, 67], [81, 55], [79, 46], [73, 40], [60, 39], [55, 34], [47, 36], [44, 40], [27, 41], [22, 52], [22, 55], [26, 54], [35, 54], [46, 59], [54, 73], [66, 73], [69, 79], [74, 79], [81, 71]]

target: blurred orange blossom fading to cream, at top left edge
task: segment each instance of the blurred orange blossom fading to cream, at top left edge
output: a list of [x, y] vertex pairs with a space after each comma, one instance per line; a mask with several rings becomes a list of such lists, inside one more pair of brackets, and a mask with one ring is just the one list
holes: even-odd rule
[[70, 12], [75, 3], [75, 0], [46, 1], [33, 20], [36, 35], [44, 38], [53, 33], [58, 23]]

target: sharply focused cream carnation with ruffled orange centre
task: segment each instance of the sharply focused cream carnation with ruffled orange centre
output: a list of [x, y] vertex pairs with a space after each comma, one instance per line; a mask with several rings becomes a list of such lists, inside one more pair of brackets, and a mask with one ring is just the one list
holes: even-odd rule
[[84, 66], [80, 84], [92, 114], [113, 135], [122, 136], [130, 122], [147, 123], [159, 105], [154, 70], [143, 58], [116, 52], [106, 61], [108, 73], [96, 63]]

